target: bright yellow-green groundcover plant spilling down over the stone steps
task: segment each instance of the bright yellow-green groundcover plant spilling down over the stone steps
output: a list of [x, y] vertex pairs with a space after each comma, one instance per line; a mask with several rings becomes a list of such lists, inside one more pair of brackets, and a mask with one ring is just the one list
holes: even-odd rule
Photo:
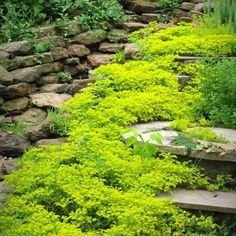
[[[160, 35], [186, 31], [192, 50], [197, 48], [194, 30], [181, 26]], [[150, 47], [152, 62], [102, 66], [93, 75], [97, 82], [65, 104], [67, 143], [25, 153], [21, 168], [7, 177], [14, 191], [1, 210], [1, 235], [222, 235], [211, 216], [196, 216], [158, 199], [177, 187], [214, 189], [201, 170], [170, 154], [134, 154], [121, 141], [132, 123], [192, 119], [192, 104], [201, 99], [195, 89], [179, 91], [176, 64], [172, 56], [159, 58], [168, 52], [156, 34], [147, 44], [142, 41]], [[232, 40], [227, 40], [217, 55], [230, 53]], [[213, 48], [201, 50], [213, 54]]]

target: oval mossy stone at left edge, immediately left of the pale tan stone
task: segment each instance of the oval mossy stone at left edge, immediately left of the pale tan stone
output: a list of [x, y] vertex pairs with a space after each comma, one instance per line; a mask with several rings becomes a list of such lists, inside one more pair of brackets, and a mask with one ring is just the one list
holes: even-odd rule
[[5, 102], [2, 105], [2, 109], [7, 112], [14, 112], [14, 114], [21, 113], [23, 110], [25, 110], [30, 103], [30, 99], [26, 97], [16, 98], [11, 101]]

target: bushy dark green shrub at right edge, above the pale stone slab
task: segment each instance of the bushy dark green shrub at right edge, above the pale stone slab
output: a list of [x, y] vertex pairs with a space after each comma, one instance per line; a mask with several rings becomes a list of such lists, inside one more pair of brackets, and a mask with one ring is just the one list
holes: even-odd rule
[[200, 83], [203, 100], [195, 108], [214, 125], [236, 128], [236, 60], [207, 63]]

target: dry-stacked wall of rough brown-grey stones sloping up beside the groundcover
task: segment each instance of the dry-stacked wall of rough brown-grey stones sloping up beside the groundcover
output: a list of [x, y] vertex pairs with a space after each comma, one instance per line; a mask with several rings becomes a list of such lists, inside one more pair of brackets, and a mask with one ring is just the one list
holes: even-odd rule
[[[190, 21], [201, 11], [201, 0], [185, 1], [175, 12], [176, 21]], [[137, 48], [127, 44], [129, 32], [147, 27], [161, 13], [156, 1], [132, 0], [125, 10], [125, 22], [104, 23], [107, 30], [85, 31], [75, 21], [64, 30], [53, 25], [32, 29], [37, 43], [51, 47], [46, 52], [34, 53], [28, 41], [0, 45], [0, 123], [24, 124], [30, 140], [0, 130], [0, 155], [18, 156], [30, 142], [52, 137], [47, 109], [60, 107], [80, 92], [90, 82], [89, 71], [109, 63], [118, 50], [125, 48], [127, 57], [132, 57]], [[68, 72], [72, 80], [60, 77], [60, 72]]]

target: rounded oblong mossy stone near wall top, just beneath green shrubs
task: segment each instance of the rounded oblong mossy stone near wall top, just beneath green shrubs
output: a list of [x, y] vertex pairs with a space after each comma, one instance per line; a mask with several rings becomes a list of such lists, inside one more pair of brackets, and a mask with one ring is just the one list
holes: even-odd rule
[[72, 39], [72, 42], [85, 44], [85, 45], [91, 45], [95, 43], [100, 43], [105, 38], [106, 38], [106, 32], [104, 30], [95, 29], [95, 30], [90, 30], [82, 34], [76, 35]]

